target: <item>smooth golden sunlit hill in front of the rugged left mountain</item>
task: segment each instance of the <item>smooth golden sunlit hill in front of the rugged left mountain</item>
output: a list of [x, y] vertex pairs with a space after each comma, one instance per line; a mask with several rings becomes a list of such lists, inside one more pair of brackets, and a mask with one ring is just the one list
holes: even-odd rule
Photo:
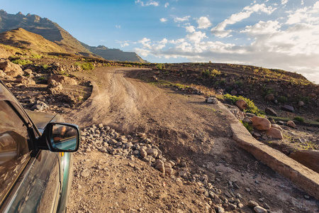
[[67, 50], [43, 38], [42, 35], [30, 33], [23, 28], [0, 33], [0, 43], [26, 50], [31, 49], [34, 53], [67, 53]]

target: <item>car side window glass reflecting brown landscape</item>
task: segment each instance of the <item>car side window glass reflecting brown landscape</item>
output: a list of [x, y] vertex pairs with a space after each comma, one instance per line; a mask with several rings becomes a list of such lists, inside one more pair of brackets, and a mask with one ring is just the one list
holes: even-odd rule
[[0, 202], [30, 159], [28, 130], [13, 104], [0, 100]]

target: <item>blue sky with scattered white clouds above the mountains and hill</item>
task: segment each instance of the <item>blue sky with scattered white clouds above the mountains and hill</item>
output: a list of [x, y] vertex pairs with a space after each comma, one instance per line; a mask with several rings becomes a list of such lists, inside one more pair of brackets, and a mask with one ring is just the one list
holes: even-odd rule
[[226, 62], [298, 72], [319, 84], [316, 0], [0, 0], [88, 45], [150, 62]]

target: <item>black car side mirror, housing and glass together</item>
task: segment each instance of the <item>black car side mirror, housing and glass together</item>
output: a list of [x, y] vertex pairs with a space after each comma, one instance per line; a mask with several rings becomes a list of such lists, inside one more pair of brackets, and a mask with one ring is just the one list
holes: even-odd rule
[[[79, 149], [79, 126], [65, 123], [49, 123], [40, 138], [39, 148], [52, 152], [75, 152]], [[46, 143], [46, 147], [44, 146]]]

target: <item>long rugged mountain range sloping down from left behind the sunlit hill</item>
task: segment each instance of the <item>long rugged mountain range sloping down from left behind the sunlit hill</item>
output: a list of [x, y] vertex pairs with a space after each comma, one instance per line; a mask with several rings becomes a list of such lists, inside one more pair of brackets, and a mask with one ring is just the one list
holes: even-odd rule
[[[21, 12], [14, 15], [0, 10], [0, 33], [12, 31], [17, 28], [23, 28], [31, 33], [42, 35], [46, 40], [50, 40], [59, 45], [63, 50], [66, 50], [67, 53], [95, 58], [100, 58], [101, 56], [101, 58], [106, 60], [145, 62], [145, 60], [142, 60], [136, 53], [123, 52], [118, 49], [108, 49], [104, 46], [91, 47], [81, 43], [57, 23], [50, 21], [48, 18], [41, 18], [40, 16], [31, 15], [30, 13], [25, 16]], [[33, 36], [33, 38], [35, 37]], [[17, 39], [13, 38], [13, 40]], [[28, 40], [23, 40], [23, 42], [28, 43]], [[32, 43], [34, 44], [34, 40]]]

